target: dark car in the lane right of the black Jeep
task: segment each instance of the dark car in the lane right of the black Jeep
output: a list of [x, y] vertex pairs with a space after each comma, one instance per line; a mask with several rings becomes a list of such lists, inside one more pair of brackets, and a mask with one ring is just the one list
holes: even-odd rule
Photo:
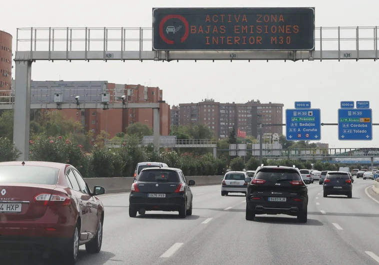
[[328, 195], [346, 195], [352, 198], [352, 185], [347, 172], [329, 171], [323, 182], [323, 197]]

